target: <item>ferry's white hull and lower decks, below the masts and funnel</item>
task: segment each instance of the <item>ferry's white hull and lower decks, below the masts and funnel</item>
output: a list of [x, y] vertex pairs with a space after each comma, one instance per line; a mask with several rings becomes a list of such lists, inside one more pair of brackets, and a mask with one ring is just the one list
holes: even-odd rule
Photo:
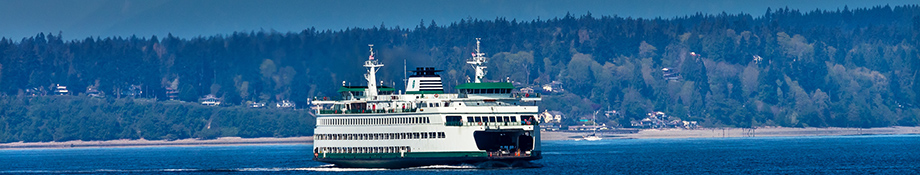
[[[431, 109], [429, 111], [433, 111]], [[539, 145], [539, 125], [528, 125], [522, 120], [514, 122], [463, 122], [461, 126], [447, 126], [446, 116], [535, 116], [536, 113], [402, 113], [402, 114], [355, 114], [321, 115], [319, 121], [335, 119], [387, 119], [426, 118], [404, 124], [368, 125], [326, 125], [317, 127], [314, 141], [314, 160], [335, 164], [338, 167], [354, 168], [405, 168], [427, 165], [484, 165], [527, 166], [527, 161], [542, 158]], [[427, 123], [425, 121], [427, 120]], [[378, 120], [379, 121], [379, 120]], [[355, 121], [352, 121], [355, 122]], [[403, 135], [393, 136], [393, 133]], [[417, 133], [436, 133], [431, 136], [415, 136]], [[443, 133], [443, 137], [440, 135]], [[478, 134], [477, 134], [478, 133]], [[389, 134], [389, 135], [383, 135]], [[337, 135], [337, 136], [336, 136]], [[518, 137], [504, 143], [505, 148], [491, 151], [490, 140], [498, 135]], [[339, 138], [329, 138], [339, 137]], [[515, 143], [511, 143], [516, 141]], [[521, 145], [525, 144], [525, 145]], [[513, 146], [510, 146], [513, 145]], [[492, 145], [494, 147], [494, 145]], [[339, 149], [339, 150], [333, 150]], [[346, 150], [341, 150], [346, 149]], [[403, 149], [403, 150], [401, 150]]]

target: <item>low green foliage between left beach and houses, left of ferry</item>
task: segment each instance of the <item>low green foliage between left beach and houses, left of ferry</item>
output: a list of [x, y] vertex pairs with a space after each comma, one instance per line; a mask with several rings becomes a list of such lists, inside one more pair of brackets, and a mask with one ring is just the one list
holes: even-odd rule
[[302, 110], [76, 96], [0, 96], [0, 143], [312, 135]]

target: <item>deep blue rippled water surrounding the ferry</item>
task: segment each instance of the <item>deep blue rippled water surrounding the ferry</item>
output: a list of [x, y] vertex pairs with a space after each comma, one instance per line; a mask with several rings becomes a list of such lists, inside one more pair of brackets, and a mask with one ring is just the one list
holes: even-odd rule
[[920, 135], [546, 141], [542, 168], [343, 169], [312, 145], [0, 150], [0, 174], [920, 174]]

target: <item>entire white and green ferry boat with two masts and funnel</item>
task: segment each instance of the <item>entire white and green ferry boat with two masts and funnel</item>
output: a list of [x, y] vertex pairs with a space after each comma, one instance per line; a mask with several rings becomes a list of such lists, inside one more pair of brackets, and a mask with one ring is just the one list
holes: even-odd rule
[[406, 168], [467, 164], [526, 167], [542, 158], [539, 94], [513, 93], [510, 82], [484, 82], [486, 57], [467, 63], [475, 79], [446, 93], [432, 67], [416, 68], [405, 93], [378, 86], [384, 66], [373, 45], [364, 62], [367, 86], [343, 86], [341, 99], [317, 98], [313, 160], [337, 167]]

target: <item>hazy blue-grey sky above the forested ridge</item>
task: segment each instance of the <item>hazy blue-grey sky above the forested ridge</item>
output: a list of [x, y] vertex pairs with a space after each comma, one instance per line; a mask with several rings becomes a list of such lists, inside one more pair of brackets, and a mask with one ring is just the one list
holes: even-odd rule
[[672, 18], [749, 13], [767, 7], [803, 11], [918, 4], [917, 0], [2, 0], [0, 37], [19, 40], [39, 32], [64, 38], [151, 35], [190, 38], [234, 31], [414, 28], [421, 20], [446, 25], [466, 18], [530, 21], [565, 16]]

